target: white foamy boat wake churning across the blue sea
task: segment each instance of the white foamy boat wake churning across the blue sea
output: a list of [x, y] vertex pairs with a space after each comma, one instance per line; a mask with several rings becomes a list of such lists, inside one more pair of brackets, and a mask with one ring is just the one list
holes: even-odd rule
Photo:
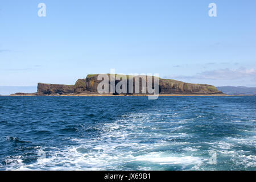
[[[144, 162], [144, 166], [137, 167], [138, 170], [150, 170], [151, 164], [176, 164], [183, 169], [200, 169], [201, 165], [208, 162], [208, 158], [198, 157], [195, 154], [200, 148], [192, 147], [191, 143], [185, 139], [191, 134], [181, 133], [183, 126], [180, 124], [187, 122], [189, 119], [179, 121], [171, 119], [170, 121], [158, 121], [159, 118], [153, 118], [154, 127], [148, 125], [152, 122], [149, 119], [156, 114], [137, 113], [123, 115], [112, 123], [104, 123], [100, 127], [100, 135], [96, 138], [82, 139], [73, 138], [71, 141], [78, 145], [67, 146], [64, 148], [51, 148], [45, 159], [39, 159], [36, 163], [25, 165], [19, 161], [15, 166], [10, 168], [20, 170], [105, 170], [105, 169], [122, 169], [127, 163]], [[162, 129], [162, 125], [170, 128]], [[149, 132], [142, 132], [147, 129]], [[159, 133], [161, 131], [161, 133]], [[168, 132], [170, 131], [170, 132]], [[175, 131], [175, 133], [172, 133]], [[154, 138], [154, 142], [147, 142]], [[168, 141], [167, 139], [174, 139]], [[245, 154], [243, 151], [233, 151], [235, 143], [252, 144], [253, 139], [233, 139], [225, 138], [224, 140], [205, 143], [212, 147], [209, 150], [216, 150], [221, 155], [232, 155], [234, 163], [247, 164], [242, 165], [254, 166], [255, 156]], [[179, 148], [180, 154], [172, 152], [172, 148]], [[84, 149], [84, 150], [81, 150]], [[159, 151], [166, 152], [159, 152]], [[170, 148], [170, 150], [168, 150]], [[79, 150], [80, 149], [80, 150]], [[168, 151], [168, 152], [167, 152]], [[238, 156], [237, 156], [238, 155]], [[208, 156], [207, 156], [208, 157]], [[193, 166], [191, 168], [191, 166]]]

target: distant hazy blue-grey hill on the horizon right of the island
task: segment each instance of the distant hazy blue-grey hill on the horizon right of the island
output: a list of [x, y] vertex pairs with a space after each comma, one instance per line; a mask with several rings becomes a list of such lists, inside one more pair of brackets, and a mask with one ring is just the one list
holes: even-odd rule
[[217, 86], [217, 89], [221, 92], [229, 95], [256, 95], [256, 87], [246, 86]]

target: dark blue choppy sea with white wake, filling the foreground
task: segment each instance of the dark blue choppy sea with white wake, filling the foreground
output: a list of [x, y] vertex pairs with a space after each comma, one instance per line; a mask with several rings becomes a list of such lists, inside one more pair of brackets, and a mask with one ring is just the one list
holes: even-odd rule
[[0, 170], [255, 170], [255, 121], [253, 96], [0, 97]]

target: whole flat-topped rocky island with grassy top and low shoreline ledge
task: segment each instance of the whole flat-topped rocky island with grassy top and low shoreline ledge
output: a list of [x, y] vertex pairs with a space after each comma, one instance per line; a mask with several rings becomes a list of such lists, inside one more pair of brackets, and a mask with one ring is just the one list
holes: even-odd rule
[[[148, 96], [148, 93], [142, 93], [140, 88], [139, 93], [134, 94], [127, 93], [104, 93], [99, 94], [97, 92], [98, 84], [101, 80], [98, 80], [98, 75], [88, 75], [86, 78], [79, 79], [75, 85], [62, 85], [62, 84], [44, 84], [38, 83], [38, 90], [36, 93], [15, 93], [10, 96]], [[127, 76], [127, 88], [129, 88], [129, 79], [135, 79]], [[147, 80], [147, 76], [146, 80]], [[142, 85], [142, 79], [139, 78], [139, 84]], [[118, 84], [118, 80], [115, 80], [115, 85]], [[109, 83], [110, 84], [110, 83]], [[134, 82], [133, 82], [134, 84]], [[153, 79], [154, 87], [154, 79]], [[207, 84], [190, 84], [182, 81], [159, 78], [159, 96], [226, 96], [213, 85]], [[134, 85], [133, 85], [134, 86]]]

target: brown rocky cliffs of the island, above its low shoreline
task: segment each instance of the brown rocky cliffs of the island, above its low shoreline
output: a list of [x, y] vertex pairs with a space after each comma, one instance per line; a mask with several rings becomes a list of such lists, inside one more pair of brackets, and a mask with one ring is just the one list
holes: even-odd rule
[[[132, 79], [135, 79], [133, 76]], [[97, 87], [101, 80], [97, 80], [98, 75], [88, 75], [84, 79], [76, 81], [75, 85], [43, 84], [38, 83], [38, 96], [61, 96], [61, 95], [93, 95], [98, 94]], [[127, 76], [128, 78], [128, 76]], [[147, 77], [146, 77], [147, 79]], [[115, 85], [119, 81], [115, 81]], [[142, 80], [140, 80], [141, 85]], [[110, 82], [109, 82], [110, 84]], [[154, 80], [152, 82], [154, 84]], [[154, 87], [154, 86], [153, 86]], [[129, 81], [127, 81], [129, 88]], [[141, 89], [141, 88], [140, 88]], [[129, 93], [129, 92], [127, 92]], [[140, 90], [141, 93], [141, 90]], [[223, 94], [215, 86], [206, 84], [189, 84], [181, 81], [159, 78], [159, 94], [197, 94], [197, 95], [217, 95]], [[113, 95], [113, 94], [111, 94]], [[131, 94], [135, 95], [135, 94]], [[140, 95], [140, 94], [137, 94]], [[142, 93], [141, 93], [142, 95]]]

